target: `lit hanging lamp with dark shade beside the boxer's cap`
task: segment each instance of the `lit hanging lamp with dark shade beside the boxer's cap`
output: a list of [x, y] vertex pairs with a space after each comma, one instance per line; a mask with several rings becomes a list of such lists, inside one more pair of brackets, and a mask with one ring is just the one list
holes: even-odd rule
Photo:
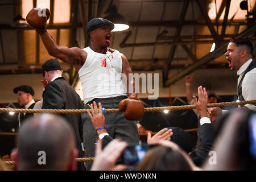
[[115, 28], [112, 30], [112, 32], [127, 30], [130, 27], [125, 17], [118, 14], [117, 6], [111, 5], [109, 7], [108, 14], [104, 16], [104, 18], [114, 23]]

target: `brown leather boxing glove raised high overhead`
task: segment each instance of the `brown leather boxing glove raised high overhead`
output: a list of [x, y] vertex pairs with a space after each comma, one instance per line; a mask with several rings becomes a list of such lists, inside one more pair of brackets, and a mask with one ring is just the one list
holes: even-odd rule
[[48, 9], [34, 8], [27, 14], [26, 20], [31, 27], [36, 29], [38, 34], [43, 34], [47, 30], [46, 22], [50, 15], [51, 13]]

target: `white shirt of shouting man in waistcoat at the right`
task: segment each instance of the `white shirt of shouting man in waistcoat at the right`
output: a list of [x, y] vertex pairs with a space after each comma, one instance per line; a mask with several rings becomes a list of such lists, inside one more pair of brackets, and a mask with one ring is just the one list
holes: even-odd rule
[[[243, 76], [243, 73], [249, 66], [249, 64], [253, 61], [253, 59], [249, 59], [246, 61], [245, 64], [241, 66], [240, 69], [237, 71], [237, 75], [239, 75], [237, 85], [239, 85], [240, 80]], [[256, 69], [252, 69], [251, 71], [247, 72], [245, 77], [243, 78], [242, 82], [242, 96], [245, 101], [249, 100], [256, 100]], [[248, 109], [256, 111], [256, 106], [253, 104], [246, 104], [245, 105]]]

